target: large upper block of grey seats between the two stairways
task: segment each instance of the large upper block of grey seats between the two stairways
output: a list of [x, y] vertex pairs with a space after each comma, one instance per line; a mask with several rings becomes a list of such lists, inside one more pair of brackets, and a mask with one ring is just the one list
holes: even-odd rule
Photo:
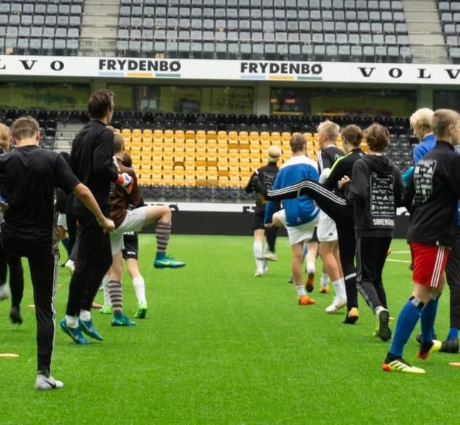
[[121, 0], [116, 53], [412, 61], [401, 1]]

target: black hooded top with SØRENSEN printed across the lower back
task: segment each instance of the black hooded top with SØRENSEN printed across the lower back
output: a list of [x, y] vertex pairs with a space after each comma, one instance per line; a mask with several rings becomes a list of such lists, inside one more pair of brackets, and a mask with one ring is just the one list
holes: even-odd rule
[[[347, 191], [347, 189], [349, 189]], [[354, 204], [357, 237], [392, 237], [397, 206], [402, 206], [401, 171], [384, 155], [366, 155], [355, 161], [347, 198]]]

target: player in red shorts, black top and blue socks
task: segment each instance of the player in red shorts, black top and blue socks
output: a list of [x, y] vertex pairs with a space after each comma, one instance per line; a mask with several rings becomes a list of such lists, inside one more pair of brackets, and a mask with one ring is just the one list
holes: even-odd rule
[[[436, 308], [444, 287], [444, 267], [455, 244], [457, 206], [460, 198], [460, 154], [453, 144], [460, 141], [460, 115], [450, 109], [437, 109], [431, 119], [436, 144], [414, 167], [409, 182], [414, 187], [406, 200], [411, 212], [407, 240], [412, 264], [412, 294], [399, 313], [392, 346], [382, 364], [384, 371], [424, 374], [424, 369], [403, 359], [404, 346], [417, 321], [421, 322], [419, 359], [441, 349], [433, 339]], [[412, 196], [413, 194], [413, 196]]]

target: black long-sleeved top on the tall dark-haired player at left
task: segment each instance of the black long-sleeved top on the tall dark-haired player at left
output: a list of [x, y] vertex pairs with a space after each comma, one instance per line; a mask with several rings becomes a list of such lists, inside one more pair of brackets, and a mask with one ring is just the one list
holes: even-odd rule
[[[70, 166], [108, 214], [111, 182], [118, 177], [113, 164], [113, 131], [101, 121], [88, 122], [73, 139]], [[82, 208], [83, 204], [76, 199], [75, 206]]]

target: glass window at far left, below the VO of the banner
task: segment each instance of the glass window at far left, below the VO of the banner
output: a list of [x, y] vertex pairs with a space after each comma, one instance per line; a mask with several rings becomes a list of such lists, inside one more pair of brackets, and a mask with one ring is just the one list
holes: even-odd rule
[[89, 84], [0, 83], [3, 109], [86, 111]]

